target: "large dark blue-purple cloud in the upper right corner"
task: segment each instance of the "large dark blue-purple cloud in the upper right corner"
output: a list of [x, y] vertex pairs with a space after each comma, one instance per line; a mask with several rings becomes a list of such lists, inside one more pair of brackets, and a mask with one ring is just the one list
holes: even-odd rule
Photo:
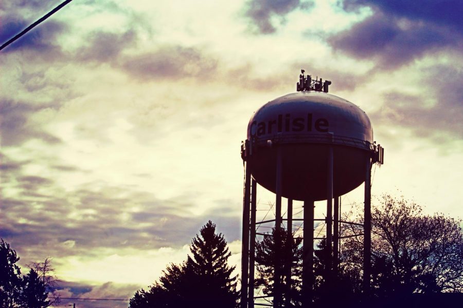
[[[443, 48], [459, 50], [463, 44], [461, 18], [446, 19], [431, 2], [425, 2], [423, 7], [415, 1], [344, 1], [343, 4], [346, 10], [370, 6], [373, 15], [329, 36], [327, 42], [335, 50], [358, 59], [375, 60], [380, 68], [394, 69]], [[418, 7], [419, 14], [413, 12]], [[454, 8], [458, 7], [461, 4], [455, 4]]]

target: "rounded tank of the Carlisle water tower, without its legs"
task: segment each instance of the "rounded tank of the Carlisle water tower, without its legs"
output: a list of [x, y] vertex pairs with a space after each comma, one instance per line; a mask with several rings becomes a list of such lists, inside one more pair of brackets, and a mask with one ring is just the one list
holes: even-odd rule
[[333, 148], [333, 193], [341, 196], [365, 181], [373, 130], [366, 113], [336, 95], [300, 91], [259, 108], [247, 127], [253, 178], [275, 192], [277, 152], [282, 196], [326, 200], [329, 147]]

